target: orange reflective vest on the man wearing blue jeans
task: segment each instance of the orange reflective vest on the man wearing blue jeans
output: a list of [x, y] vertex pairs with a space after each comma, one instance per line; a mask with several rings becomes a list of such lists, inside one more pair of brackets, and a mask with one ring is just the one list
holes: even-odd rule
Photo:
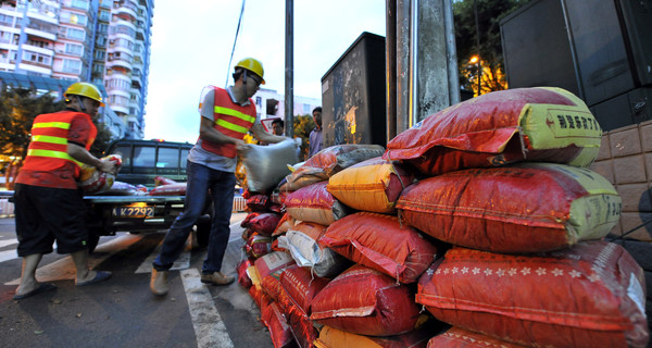
[[[244, 135], [251, 129], [255, 121], [255, 105], [250, 99], [248, 105], [241, 107], [233, 102], [226, 89], [214, 87], [214, 90], [213, 117], [215, 123], [213, 127], [231, 138], [244, 139]], [[236, 146], [233, 144], [218, 144], [202, 139], [201, 147], [206, 151], [229, 159], [236, 157]]]

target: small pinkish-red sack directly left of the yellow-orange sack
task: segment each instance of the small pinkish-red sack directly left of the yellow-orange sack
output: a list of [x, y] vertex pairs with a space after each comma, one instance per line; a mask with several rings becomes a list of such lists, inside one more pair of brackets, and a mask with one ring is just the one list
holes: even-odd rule
[[328, 182], [300, 188], [286, 199], [286, 210], [296, 220], [330, 225], [347, 215], [348, 209], [326, 189]]

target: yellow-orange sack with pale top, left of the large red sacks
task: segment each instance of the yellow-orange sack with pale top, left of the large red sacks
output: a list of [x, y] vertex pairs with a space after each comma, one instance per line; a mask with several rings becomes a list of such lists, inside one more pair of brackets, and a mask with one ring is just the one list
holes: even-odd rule
[[328, 179], [328, 191], [355, 210], [394, 213], [394, 203], [414, 175], [399, 163], [374, 158], [352, 165]]

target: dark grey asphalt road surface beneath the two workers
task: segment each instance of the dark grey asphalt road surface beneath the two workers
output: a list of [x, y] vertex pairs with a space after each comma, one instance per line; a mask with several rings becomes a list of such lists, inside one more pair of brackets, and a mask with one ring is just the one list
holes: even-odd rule
[[[122, 248], [114, 244], [106, 249], [103, 237], [91, 261], [101, 260], [95, 268], [113, 272], [106, 282], [76, 287], [59, 265], [60, 279], [52, 279], [58, 289], [13, 301], [15, 285], [7, 285], [20, 277], [21, 260], [0, 262], [0, 335], [3, 346], [162, 346], [200, 347], [196, 337], [186, 289], [179, 271], [170, 274], [171, 291], [158, 298], [149, 290], [149, 273], [135, 273], [139, 263], [161, 243], [164, 234], [137, 236], [138, 240]], [[118, 236], [113, 239], [120, 239]], [[111, 238], [110, 238], [111, 239]], [[189, 270], [198, 272], [205, 250], [191, 252]], [[65, 259], [54, 254], [43, 258], [40, 265]], [[227, 266], [225, 264], [225, 266]], [[231, 269], [235, 274], [235, 266]], [[40, 279], [40, 278], [39, 278]], [[209, 287], [215, 294], [246, 294], [237, 284], [228, 287]], [[233, 294], [231, 294], [233, 295]], [[218, 313], [223, 316], [234, 347], [272, 347], [269, 335], [259, 321], [260, 314], [251, 308], [233, 306], [228, 295], [216, 296]], [[241, 297], [240, 297], [241, 298]], [[256, 309], [258, 310], [258, 309]], [[206, 328], [208, 327], [208, 328]], [[210, 325], [204, 326], [209, 330]]]

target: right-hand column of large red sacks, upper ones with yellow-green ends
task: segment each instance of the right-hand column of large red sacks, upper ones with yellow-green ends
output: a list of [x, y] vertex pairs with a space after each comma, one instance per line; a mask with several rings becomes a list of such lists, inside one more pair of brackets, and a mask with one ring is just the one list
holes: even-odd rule
[[425, 176], [402, 191], [401, 221], [453, 245], [416, 295], [453, 326], [432, 347], [468, 336], [457, 330], [532, 347], [645, 347], [643, 272], [600, 240], [620, 213], [614, 187], [586, 169], [600, 137], [572, 94], [526, 88], [451, 107], [388, 144], [384, 158]]

